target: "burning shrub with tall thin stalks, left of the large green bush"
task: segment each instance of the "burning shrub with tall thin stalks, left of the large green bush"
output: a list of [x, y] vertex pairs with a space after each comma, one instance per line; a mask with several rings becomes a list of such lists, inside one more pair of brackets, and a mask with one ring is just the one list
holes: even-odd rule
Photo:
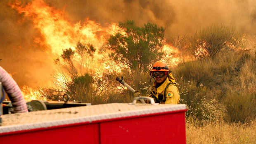
[[88, 67], [83, 64], [85, 56], [88, 55], [87, 59], [93, 57], [94, 46], [78, 42], [75, 49], [64, 49], [61, 54], [62, 59], [57, 58], [55, 60], [59, 67], [55, 73], [57, 89], [45, 88], [41, 91], [42, 95], [50, 100], [59, 100], [64, 93], [71, 96], [70, 100], [82, 102], [91, 102], [91, 97], [95, 97], [93, 95], [95, 94], [94, 75], [87, 73], [89, 71]]

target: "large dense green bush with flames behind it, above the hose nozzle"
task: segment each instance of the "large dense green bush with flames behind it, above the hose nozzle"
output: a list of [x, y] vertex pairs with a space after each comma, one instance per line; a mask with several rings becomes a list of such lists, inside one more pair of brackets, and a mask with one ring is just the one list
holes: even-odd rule
[[110, 36], [107, 48], [112, 51], [109, 57], [117, 65], [128, 67], [132, 72], [147, 72], [163, 53], [165, 37], [163, 27], [146, 23], [137, 27], [134, 21], [119, 22], [122, 31]]

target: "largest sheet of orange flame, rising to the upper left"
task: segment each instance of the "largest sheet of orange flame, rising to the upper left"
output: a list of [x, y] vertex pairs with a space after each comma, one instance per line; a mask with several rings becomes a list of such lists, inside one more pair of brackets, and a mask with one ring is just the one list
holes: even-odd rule
[[[50, 7], [43, 0], [34, 0], [24, 7], [17, 1], [9, 5], [17, 9], [19, 14], [24, 13], [25, 16], [31, 17], [35, 27], [44, 36], [45, 43], [53, 53], [57, 54], [61, 53], [62, 49], [69, 47], [74, 49], [78, 41], [91, 43], [100, 48], [106, 42], [108, 35], [114, 35], [119, 30], [116, 23], [103, 28], [99, 23], [88, 18], [82, 24], [81, 22], [72, 24], [65, 18], [64, 10]], [[38, 39], [40, 38], [35, 41]]]

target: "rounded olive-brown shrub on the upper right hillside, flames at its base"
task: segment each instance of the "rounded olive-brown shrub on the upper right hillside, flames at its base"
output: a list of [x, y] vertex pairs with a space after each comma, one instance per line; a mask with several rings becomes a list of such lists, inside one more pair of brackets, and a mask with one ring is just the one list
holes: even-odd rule
[[220, 51], [227, 52], [244, 44], [244, 35], [239, 34], [235, 27], [214, 25], [191, 36], [188, 49], [198, 59], [214, 58]]

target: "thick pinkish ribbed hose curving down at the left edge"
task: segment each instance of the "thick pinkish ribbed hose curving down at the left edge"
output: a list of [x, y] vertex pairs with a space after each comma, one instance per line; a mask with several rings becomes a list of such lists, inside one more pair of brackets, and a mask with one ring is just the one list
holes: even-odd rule
[[5, 92], [12, 101], [12, 106], [15, 113], [28, 112], [26, 101], [21, 93], [21, 90], [12, 77], [0, 66], [0, 82], [5, 88]]

